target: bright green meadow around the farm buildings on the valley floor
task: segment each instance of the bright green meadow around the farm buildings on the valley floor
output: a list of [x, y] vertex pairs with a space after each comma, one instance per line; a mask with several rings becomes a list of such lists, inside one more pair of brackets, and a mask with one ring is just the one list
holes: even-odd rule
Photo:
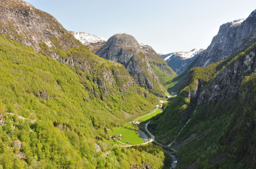
[[[129, 124], [131, 125], [131, 124]], [[115, 127], [114, 128], [115, 131], [112, 132], [110, 135], [119, 135], [119, 134], [122, 134], [122, 140], [119, 140], [120, 142], [122, 143], [125, 143], [128, 141], [130, 142], [130, 145], [135, 145], [135, 144], [142, 144], [144, 143], [140, 136], [138, 134], [136, 134], [136, 132], [134, 130], [129, 130], [129, 129], [126, 129], [124, 127]], [[108, 143], [110, 144], [121, 144], [120, 142], [114, 142], [114, 140], [108, 140]]]

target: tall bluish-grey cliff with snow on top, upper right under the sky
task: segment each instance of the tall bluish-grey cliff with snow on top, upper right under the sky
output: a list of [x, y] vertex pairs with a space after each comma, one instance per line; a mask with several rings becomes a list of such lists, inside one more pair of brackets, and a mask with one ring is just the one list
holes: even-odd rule
[[220, 26], [211, 45], [197, 59], [195, 67], [206, 67], [224, 60], [256, 41], [256, 10], [248, 18], [237, 19]]

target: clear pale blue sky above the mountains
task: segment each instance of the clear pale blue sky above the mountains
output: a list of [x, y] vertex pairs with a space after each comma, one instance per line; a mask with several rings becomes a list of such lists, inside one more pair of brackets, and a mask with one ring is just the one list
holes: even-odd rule
[[128, 33], [158, 53], [207, 48], [220, 25], [247, 18], [255, 0], [27, 0], [69, 31]]

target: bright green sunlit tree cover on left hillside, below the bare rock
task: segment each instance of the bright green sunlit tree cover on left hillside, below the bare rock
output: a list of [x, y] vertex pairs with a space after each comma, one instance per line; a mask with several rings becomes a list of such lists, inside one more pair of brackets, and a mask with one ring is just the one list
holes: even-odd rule
[[[114, 63], [106, 63], [115, 67]], [[143, 165], [144, 160], [152, 165], [157, 164], [156, 160], [164, 161], [163, 155], [150, 159], [147, 152], [134, 150], [118, 154], [118, 147], [108, 158], [96, 152], [95, 142], [102, 151], [110, 147], [95, 138], [108, 139], [115, 126], [129, 120], [123, 111], [136, 116], [145, 114], [155, 106], [156, 97], [105, 95], [103, 101], [92, 92], [98, 87], [84, 78], [87, 76], [76, 67], [0, 36], [0, 113], [37, 119], [33, 123], [5, 115], [5, 124], [0, 127], [0, 165], [7, 169], [103, 169]], [[20, 159], [17, 148], [12, 149], [15, 140], [21, 141], [25, 160]]]

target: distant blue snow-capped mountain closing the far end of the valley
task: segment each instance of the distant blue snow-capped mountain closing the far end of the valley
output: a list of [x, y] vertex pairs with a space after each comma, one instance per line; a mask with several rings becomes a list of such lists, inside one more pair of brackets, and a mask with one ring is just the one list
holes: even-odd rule
[[161, 57], [167, 62], [177, 74], [184, 72], [188, 65], [193, 62], [199, 55], [204, 53], [205, 49], [192, 49], [187, 52], [174, 52], [162, 54]]

